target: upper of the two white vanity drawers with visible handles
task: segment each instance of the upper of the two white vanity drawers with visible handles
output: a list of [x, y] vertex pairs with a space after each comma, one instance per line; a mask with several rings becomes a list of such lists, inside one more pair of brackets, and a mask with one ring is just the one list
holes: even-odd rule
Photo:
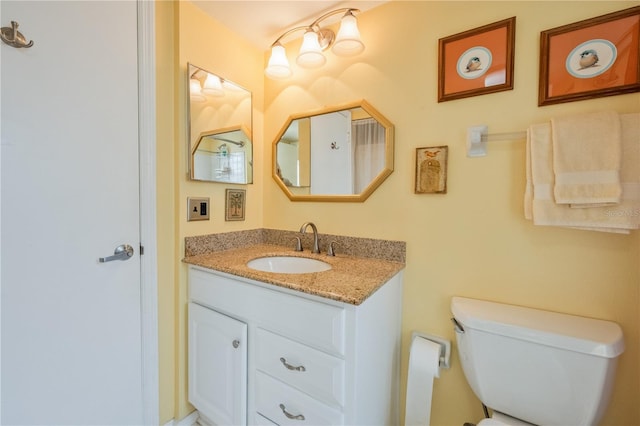
[[344, 405], [344, 360], [258, 329], [256, 365], [311, 396]]

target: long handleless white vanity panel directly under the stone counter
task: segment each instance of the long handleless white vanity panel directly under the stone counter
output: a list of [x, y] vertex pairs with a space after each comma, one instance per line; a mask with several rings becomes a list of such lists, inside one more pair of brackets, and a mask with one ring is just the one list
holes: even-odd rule
[[344, 355], [345, 310], [222, 275], [189, 269], [192, 300], [257, 322], [309, 346]]

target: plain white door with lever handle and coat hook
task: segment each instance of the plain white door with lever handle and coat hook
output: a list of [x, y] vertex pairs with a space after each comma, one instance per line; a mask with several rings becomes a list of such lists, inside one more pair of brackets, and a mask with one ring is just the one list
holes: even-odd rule
[[136, 2], [0, 7], [1, 422], [141, 424]]

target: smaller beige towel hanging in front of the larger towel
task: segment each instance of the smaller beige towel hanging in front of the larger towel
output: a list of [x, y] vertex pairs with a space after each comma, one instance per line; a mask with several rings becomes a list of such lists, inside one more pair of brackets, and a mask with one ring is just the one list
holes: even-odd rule
[[556, 203], [574, 207], [619, 203], [622, 144], [618, 113], [554, 118], [551, 128]]

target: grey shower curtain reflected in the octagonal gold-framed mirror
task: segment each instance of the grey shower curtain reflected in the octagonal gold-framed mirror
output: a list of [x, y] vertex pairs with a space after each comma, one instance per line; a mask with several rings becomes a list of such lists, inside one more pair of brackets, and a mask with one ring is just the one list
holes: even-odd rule
[[360, 194], [384, 169], [385, 129], [373, 118], [351, 124], [354, 194]]

